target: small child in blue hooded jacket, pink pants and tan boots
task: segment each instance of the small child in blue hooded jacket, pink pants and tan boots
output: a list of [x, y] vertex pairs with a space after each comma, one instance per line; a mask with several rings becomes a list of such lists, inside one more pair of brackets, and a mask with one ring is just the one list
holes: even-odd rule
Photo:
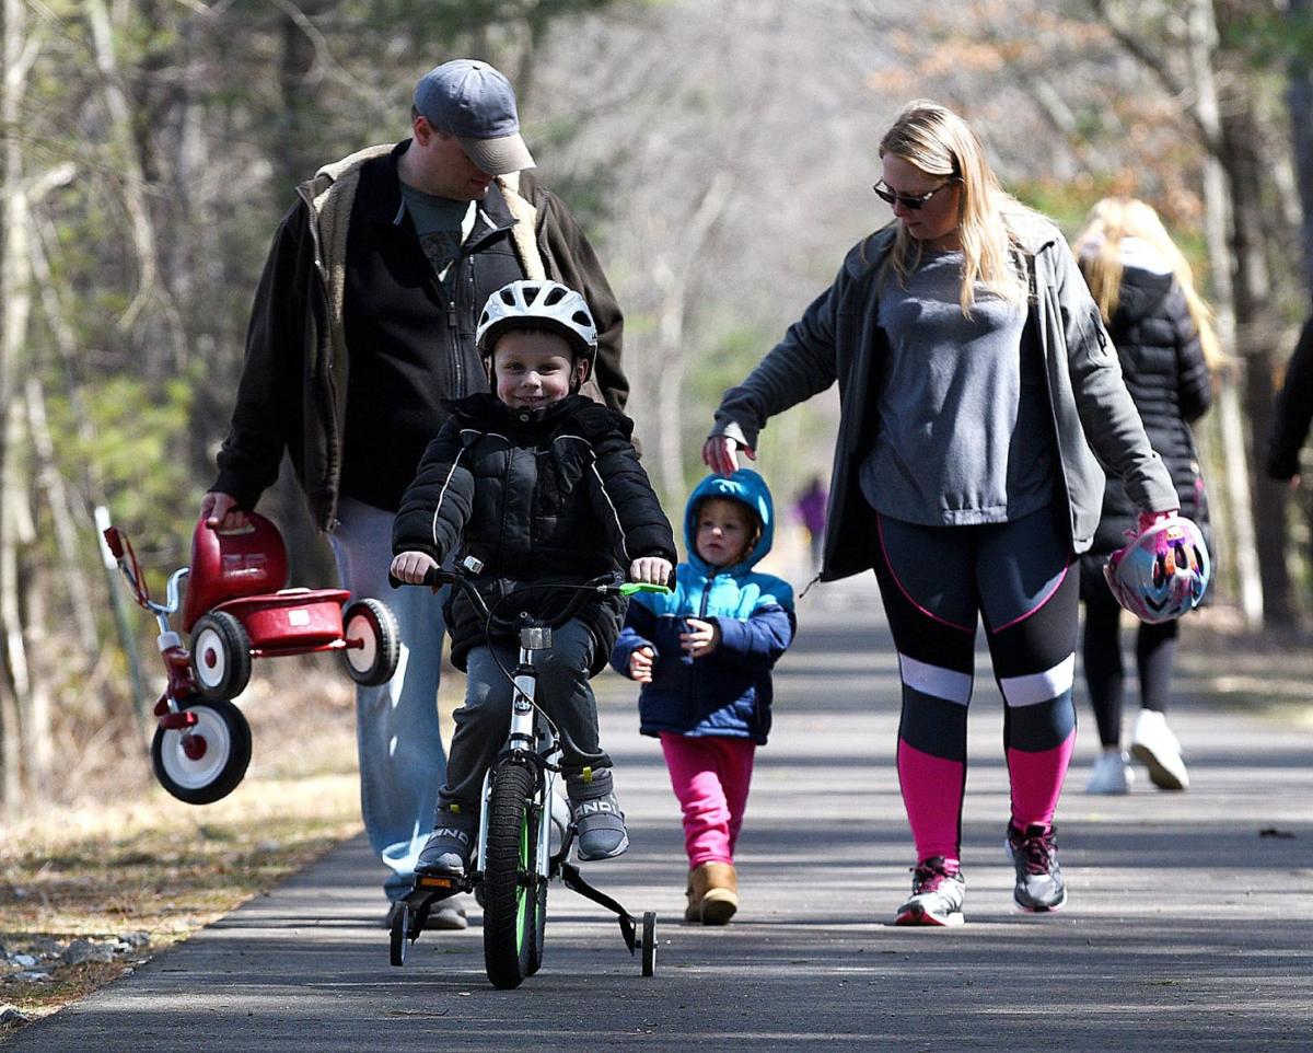
[[660, 739], [684, 817], [684, 919], [722, 926], [738, 910], [734, 847], [752, 760], [771, 730], [771, 670], [793, 642], [788, 582], [754, 567], [771, 551], [775, 508], [750, 469], [710, 475], [684, 509], [688, 559], [675, 592], [629, 604], [612, 667], [642, 684], [645, 735]]

